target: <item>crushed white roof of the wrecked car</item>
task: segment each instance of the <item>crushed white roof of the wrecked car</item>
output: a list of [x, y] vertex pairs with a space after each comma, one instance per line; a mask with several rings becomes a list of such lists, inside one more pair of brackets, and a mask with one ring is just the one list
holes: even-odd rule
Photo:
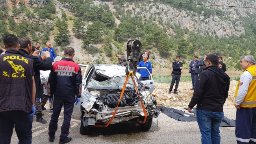
[[108, 78], [126, 75], [125, 66], [119, 65], [95, 65], [95, 70], [98, 74]]

